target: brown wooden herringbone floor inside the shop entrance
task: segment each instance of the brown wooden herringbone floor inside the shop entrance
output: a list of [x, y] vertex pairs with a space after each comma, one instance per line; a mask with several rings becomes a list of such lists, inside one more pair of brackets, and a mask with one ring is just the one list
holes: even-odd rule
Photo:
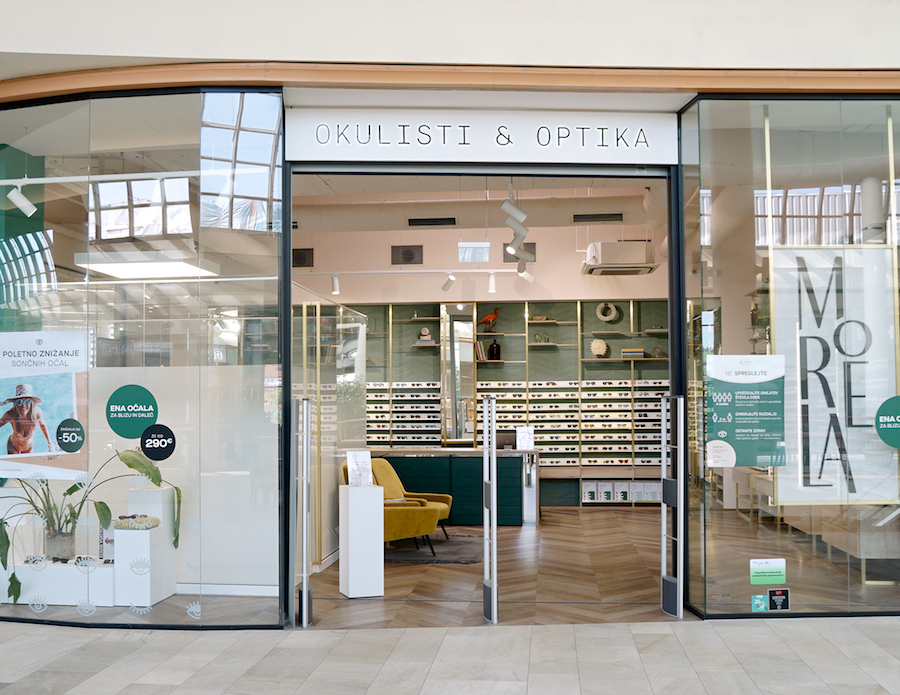
[[[544, 507], [539, 528], [501, 527], [499, 538], [501, 624], [669, 619], [659, 609], [658, 508]], [[386, 564], [384, 599], [349, 600], [338, 591], [335, 564], [313, 578], [314, 625], [481, 625], [482, 573], [481, 564]]]

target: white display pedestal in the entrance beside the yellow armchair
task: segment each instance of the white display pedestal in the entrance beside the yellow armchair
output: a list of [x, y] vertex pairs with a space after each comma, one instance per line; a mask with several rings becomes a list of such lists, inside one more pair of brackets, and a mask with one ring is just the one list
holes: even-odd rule
[[340, 486], [340, 592], [384, 596], [384, 488]]

